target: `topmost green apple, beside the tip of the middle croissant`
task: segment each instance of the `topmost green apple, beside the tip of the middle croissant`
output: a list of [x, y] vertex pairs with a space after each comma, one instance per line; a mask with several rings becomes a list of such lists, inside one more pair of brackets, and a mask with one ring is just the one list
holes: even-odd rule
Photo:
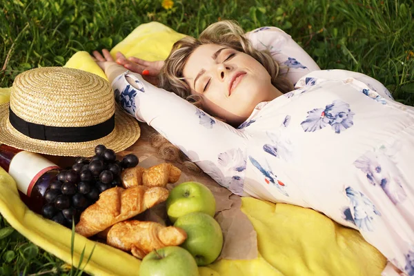
[[167, 199], [167, 214], [174, 223], [179, 217], [193, 212], [215, 214], [215, 198], [210, 189], [199, 182], [189, 181], [175, 186]]

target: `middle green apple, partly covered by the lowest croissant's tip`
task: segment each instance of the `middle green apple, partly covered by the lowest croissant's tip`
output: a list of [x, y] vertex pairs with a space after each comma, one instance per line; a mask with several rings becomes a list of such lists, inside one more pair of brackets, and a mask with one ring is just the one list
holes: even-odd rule
[[205, 213], [190, 213], [179, 217], [174, 226], [184, 229], [186, 241], [181, 247], [193, 255], [199, 266], [206, 266], [219, 257], [223, 247], [223, 233], [219, 223]]

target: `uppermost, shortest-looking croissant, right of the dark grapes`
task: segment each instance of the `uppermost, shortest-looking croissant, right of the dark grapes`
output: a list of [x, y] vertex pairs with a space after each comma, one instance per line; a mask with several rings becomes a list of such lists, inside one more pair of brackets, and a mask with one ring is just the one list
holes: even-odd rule
[[175, 183], [181, 176], [181, 170], [171, 164], [163, 163], [151, 168], [127, 168], [121, 174], [124, 188], [133, 186], [166, 187], [168, 183]]

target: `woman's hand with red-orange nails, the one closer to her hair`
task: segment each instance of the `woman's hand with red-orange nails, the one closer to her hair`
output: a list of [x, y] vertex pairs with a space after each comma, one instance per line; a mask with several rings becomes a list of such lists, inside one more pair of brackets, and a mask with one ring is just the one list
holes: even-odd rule
[[146, 61], [144, 59], [138, 59], [137, 57], [129, 57], [127, 59], [121, 52], [117, 52], [116, 57], [118, 64], [121, 64], [131, 72], [141, 74], [146, 81], [157, 86], [159, 72], [162, 66], [164, 66], [164, 61]]

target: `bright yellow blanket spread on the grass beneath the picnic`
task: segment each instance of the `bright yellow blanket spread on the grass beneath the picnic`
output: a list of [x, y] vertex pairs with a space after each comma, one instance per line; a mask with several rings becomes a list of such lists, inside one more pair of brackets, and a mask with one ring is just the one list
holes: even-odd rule
[[[160, 60], [168, 56], [172, 44], [184, 37], [157, 23], [136, 28], [111, 54]], [[86, 52], [78, 52], [66, 63], [105, 77]], [[8, 90], [0, 90], [0, 103]], [[7, 99], [6, 99], [7, 98]], [[288, 204], [271, 204], [253, 198], [242, 199], [246, 213], [257, 231], [259, 257], [252, 260], [226, 260], [199, 268], [201, 276], [278, 276], [278, 275], [380, 275], [386, 259], [353, 229], [345, 228], [314, 210]], [[71, 231], [32, 213], [19, 199], [16, 184], [0, 168], [0, 212], [9, 223], [34, 244], [72, 263]], [[140, 261], [128, 253], [75, 235], [73, 264], [79, 263], [83, 248], [88, 273], [95, 275], [138, 275]], [[83, 265], [81, 266], [83, 268]]]

